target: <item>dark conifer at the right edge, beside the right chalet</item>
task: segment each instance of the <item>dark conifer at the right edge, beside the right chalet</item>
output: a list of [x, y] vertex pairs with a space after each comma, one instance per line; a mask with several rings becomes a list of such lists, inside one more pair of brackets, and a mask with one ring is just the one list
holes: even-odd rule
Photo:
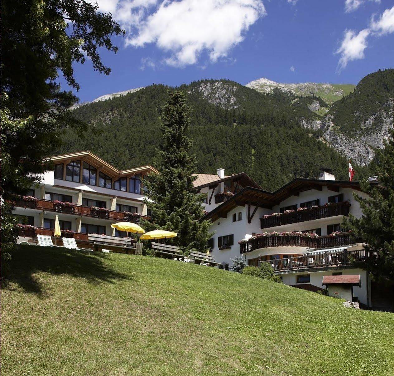
[[366, 268], [376, 280], [394, 280], [394, 130], [385, 142], [385, 149], [377, 151], [371, 170], [379, 184], [361, 183], [362, 189], [369, 195], [362, 198], [354, 194], [362, 217], [357, 219], [349, 215], [344, 224], [355, 238], [366, 243], [366, 251], [379, 253], [377, 262], [370, 259], [362, 264], [355, 262], [355, 265]]

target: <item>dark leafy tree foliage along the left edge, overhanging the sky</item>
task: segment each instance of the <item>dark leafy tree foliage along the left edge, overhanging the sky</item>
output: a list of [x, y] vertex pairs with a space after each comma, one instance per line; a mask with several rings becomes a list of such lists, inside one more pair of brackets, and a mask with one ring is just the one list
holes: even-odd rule
[[63, 129], [82, 126], [66, 110], [77, 98], [61, 90], [58, 74], [78, 89], [72, 64], [83, 63], [85, 54], [94, 69], [110, 73], [97, 48], [117, 52], [110, 38], [123, 30], [97, 9], [85, 0], [1, 1], [3, 251], [15, 240], [4, 200], [37, 183], [35, 174], [48, 168], [45, 157], [59, 147]]

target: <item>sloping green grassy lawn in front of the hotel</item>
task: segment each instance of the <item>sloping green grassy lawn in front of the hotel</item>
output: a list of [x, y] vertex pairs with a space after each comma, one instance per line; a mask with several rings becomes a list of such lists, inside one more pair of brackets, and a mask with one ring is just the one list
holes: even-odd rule
[[393, 375], [394, 314], [219, 269], [21, 247], [3, 375]]

